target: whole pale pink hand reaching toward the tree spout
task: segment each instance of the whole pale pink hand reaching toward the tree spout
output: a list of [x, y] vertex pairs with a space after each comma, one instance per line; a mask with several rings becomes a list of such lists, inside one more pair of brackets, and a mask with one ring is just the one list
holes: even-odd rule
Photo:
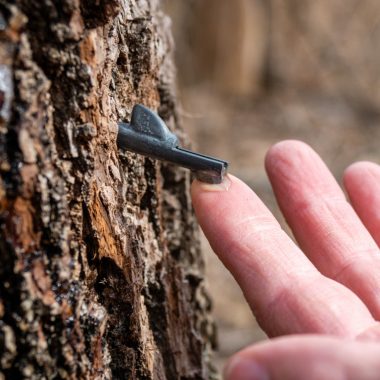
[[271, 338], [235, 354], [228, 380], [380, 379], [380, 166], [344, 173], [349, 200], [306, 144], [284, 141], [265, 160], [298, 245], [236, 177], [192, 185], [213, 250]]

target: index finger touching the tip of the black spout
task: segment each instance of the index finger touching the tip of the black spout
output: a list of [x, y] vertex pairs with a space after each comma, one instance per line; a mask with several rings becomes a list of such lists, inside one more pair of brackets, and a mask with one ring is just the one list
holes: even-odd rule
[[270, 336], [355, 336], [374, 323], [354, 293], [318, 272], [247, 185], [233, 176], [227, 182], [195, 181], [194, 209], [212, 248]]

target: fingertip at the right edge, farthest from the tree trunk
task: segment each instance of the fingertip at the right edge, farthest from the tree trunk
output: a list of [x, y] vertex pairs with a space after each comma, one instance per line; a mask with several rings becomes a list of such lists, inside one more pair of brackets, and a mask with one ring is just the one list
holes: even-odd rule
[[380, 166], [372, 162], [349, 166], [344, 186], [356, 213], [380, 246]]

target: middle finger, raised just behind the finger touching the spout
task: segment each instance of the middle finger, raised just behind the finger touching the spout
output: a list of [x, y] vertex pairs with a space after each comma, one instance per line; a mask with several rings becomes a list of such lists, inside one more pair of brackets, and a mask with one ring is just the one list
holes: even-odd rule
[[379, 320], [379, 249], [326, 165], [306, 144], [285, 141], [270, 150], [266, 168], [303, 251], [323, 274], [355, 292]]

